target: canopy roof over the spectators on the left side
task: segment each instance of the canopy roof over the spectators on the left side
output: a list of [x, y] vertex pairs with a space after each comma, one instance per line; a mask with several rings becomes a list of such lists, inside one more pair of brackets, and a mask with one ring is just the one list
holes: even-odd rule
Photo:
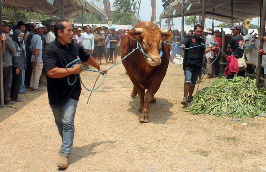
[[[64, 17], [72, 19], [84, 10], [105, 18], [105, 14], [87, 0], [64, 0]], [[62, 0], [54, 0], [51, 5], [47, 0], [3, 0], [3, 6], [12, 9], [34, 11], [42, 14], [51, 14], [57, 17], [62, 15]]]

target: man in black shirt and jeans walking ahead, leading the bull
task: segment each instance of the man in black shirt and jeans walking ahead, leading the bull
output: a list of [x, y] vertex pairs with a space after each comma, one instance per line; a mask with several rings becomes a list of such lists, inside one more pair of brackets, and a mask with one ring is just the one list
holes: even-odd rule
[[[81, 45], [74, 43], [73, 27], [67, 20], [59, 20], [55, 24], [56, 40], [48, 44], [43, 50], [42, 58], [44, 70], [47, 74], [47, 90], [49, 104], [52, 109], [58, 132], [62, 137], [61, 156], [57, 167], [67, 168], [68, 160], [73, 147], [74, 139], [74, 117], [77, 107], [77, 101], [81, 93], [79, 74], [82, 72], [82, 65], [77, 64], [73, 68], [67, 68], [66, 65], [80, 58], [99, 71], [107, 74], [105, 68], [100, 65], [86, 52]], [[74, 85], [70, 83], [77, 80]]]

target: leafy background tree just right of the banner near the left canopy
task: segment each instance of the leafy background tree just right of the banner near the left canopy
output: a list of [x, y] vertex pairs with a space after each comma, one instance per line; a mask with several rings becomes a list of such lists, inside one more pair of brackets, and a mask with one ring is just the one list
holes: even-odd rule
[[137, 23], [134, 0], [115, 0], [113, 3], [113, 24], [132, 25]]

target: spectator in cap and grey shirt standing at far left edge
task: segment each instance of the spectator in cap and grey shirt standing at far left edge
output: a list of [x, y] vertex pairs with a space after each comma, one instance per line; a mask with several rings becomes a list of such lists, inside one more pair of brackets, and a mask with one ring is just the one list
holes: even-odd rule
[[[9, 25], [6, 21], [2, 22], [2, 32], [5, 39], [5, 51], [3, 52], [3, 88], [4, 88], [4, 104], [16, 104], [8, 99], [10, 95], [11, 82], [12, 82], [12, 56], [16, 53], [16, 48], [13, 40], [9, 36], [5, 36], [9, 33]], [[2, 64], [1, 64], [2, 65]], [[16, 64], [14, 64], [16, 65]]]

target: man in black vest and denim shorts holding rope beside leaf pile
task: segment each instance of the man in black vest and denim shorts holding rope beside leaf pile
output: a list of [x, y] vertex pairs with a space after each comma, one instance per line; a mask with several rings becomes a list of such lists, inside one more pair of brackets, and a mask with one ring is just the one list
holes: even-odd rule
[[[185, 56], [183, 60], [183, 70], [185, 74], [185, 82], [184, 82], [184, 97], [181, 101], [181, 104], [187, 106], [188, 103], [193, 101], [193, 91], [195, 88], [195, 84], [199, 75], [200, 66], [202, 65], [203, 55], [204, 53], [208, 53], [213, 49], [216, 49], [215, 45], [211, 45], [210, 48], [206, 49], [204, 39], [200, 36], [202, 35], [203, 25], [195, 25], [194, 26], [194, 35], [186, 36], [181, 43], [183, 50], [185, 50]], [[198, 46], [192, 49], [186, 49], [190, 47]]]

